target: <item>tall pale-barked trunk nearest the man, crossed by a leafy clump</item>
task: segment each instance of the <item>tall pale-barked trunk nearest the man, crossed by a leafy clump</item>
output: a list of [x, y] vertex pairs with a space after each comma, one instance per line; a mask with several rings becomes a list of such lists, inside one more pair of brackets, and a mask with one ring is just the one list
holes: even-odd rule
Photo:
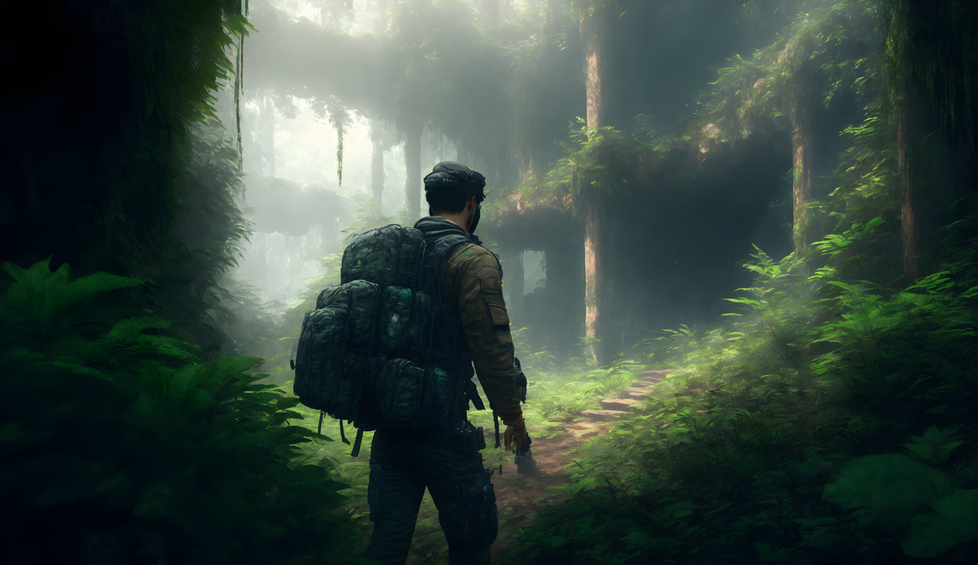
[[[588, 136], [593, 136], [605, 125], [605, 81], [601, 63], [603, 41], [603, 8], [582, 8], [581, 38], [584, 41], [584, 71], [587, 95]], [[587, 183], [584, 183], [587, 186]], [[592, 340], [605, 336], [607, 325], [604, 318], [604, 231], [605, 196], [590, 188], [578, 191], [584, 206], [584, 325], [585, 335]], [[599, 341], [590, 342], [590, 354], [600, 366], [607, 365], [607, 347]]]

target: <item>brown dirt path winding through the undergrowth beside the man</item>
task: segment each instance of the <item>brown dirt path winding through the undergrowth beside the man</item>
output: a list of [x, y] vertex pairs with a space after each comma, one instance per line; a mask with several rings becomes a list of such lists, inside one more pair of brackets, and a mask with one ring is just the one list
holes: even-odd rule
[[[646, 371], [645, 377], [633, 383], [620, 397], [607, 398], [601, 401], [601, 408], [621, 408], [616, 405], [639, 405], [641, 398], [651, 392], [655, 383], [659, 382], [669, 371]], [[535, 519], [537, 513], [548, 505], [559, 504], [563, 501], [558, 487], [567, 482], [568, 474], [564, 470], [567, 465], [574, 464], [572, 454], [575, 449], [584, 444], [589, 438], [606, 433], [615, 423], [629, 415], [626, 410], [587, 410], [584, 417], [566, 422], [562, 429], [555, 434], [533, 437], [533, 456], [537, 467], [531, 473], [516, 473], [514, 464], [503, 465], [502, 470], [496, 467], [493, 474], [493, 485], [496, 491], [496, 506], [499, 508], [499, 537], [493, 543], [492, 552], [495, 558], [505, 551], [512, 541], [511, 535]], [[531, 424], [532, 425], [532, 424]], [[495, 431], [488, 428], [485, 431], [486, 445], [495, 444]], [[434, 507], [430, 496], [424, 494], [419, 528], [415, 532], [416, 540], [437, 540], [441, 536], [441, 528], [434, 518]], [[425, 514], [431, 514], [425, 516]], [[425, 518], [428, 518], [425, 520]], [[422, 526], [422, 524], [424, 524]], [[443, 538], [442, 538], [443, 540]], [[442, 551], [445, 549], [442, 548]], [[414, 553], [408, 563], [421, 565], [437, 563], [447, 557], [442, 551], [422, 551]], [[441, 553], [440, 555], [438, 553]]]

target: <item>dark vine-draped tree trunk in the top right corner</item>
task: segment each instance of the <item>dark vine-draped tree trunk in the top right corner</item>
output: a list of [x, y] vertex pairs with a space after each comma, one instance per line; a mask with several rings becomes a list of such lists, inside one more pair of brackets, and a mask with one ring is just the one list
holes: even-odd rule
[[919, 256], [949, 241], [938, 226], [976, 186], [973, 0], [881, 3], [886, 96], [897, 129], [904, 276], [926, 275]]

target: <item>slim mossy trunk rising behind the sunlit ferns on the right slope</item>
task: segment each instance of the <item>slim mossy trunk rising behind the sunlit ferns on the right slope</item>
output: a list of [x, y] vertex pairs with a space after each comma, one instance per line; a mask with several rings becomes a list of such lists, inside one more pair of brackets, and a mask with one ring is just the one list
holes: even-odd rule
[[[803, 74], [803, 73], [799, 73]], [[812, 200], [812, 170], [815, 152], [812, 144], [812, 88], [797, 87], [791, 100], [791, 164], [794, 223], [792, 239], [795, 255], [803, 256], [812, 242], [808, 206]]]

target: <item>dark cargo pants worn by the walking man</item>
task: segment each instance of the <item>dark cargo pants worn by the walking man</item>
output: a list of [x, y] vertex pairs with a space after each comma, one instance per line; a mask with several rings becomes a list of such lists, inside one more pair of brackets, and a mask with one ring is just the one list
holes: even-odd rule
[[374, 534], [366, 557], [403, 564], [418, 520], [424, 488], [438, 508], [449, 563], [489, 563], [496, 540], [496, 497], [478, 450], [481, 428], [405, 434], [378, 429], [371, 444], [370, 501]]

